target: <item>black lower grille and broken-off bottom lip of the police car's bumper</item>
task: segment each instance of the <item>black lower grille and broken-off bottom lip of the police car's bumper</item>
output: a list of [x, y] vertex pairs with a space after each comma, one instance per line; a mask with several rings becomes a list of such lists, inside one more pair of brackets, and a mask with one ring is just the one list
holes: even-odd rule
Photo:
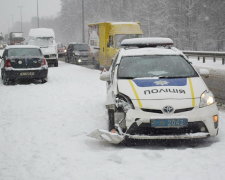
[[136, 140], [175, 140], [175, 139], [203, 139], [210, 136], [204, 123], [189, 123], [186, 128], [151, 128], [148, 124], [143, 123], [137, 126], [134, 123], [126, 133], [116, 134], [106, 130], [97, 129], [89, 134], [98, 140], [106, 141], [112, 144], [119, 144], [126, 138]]

